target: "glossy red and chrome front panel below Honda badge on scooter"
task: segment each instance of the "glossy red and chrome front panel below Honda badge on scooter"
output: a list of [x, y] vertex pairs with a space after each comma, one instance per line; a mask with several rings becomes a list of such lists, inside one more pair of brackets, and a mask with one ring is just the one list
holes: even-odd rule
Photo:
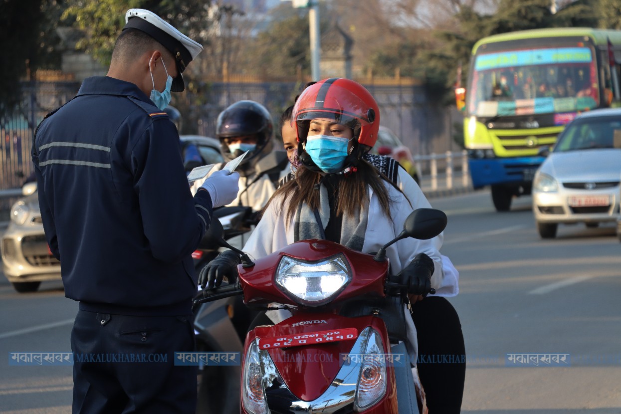
[[[383, 320], [365, 316], [347, 318], [332, 313], [304, 313], [295, 315], [274, 326], [257, 326], [248, 333], [244, 356], [250, 344], [261, 338], [289, 338], [312, 336], [317, 331], [338, 332], [344, 328], [355, 328], [357, 338], [329, 343], [305, 344], [289, 348], [259, 349], [260, 360], [265, 368], [263, 385], [266, 401], [272, 413], [335, 413], [353, 412], [356, 384], [360, 377], [360, 364], [355, 364], [347, 356], [365, 353], [369, 330], [379, 334], [383, 341], [383, 352], [390, 351], [388, 334]], [[261, 344], [261, 341], [258, 342]], [[269, 343], [267, 343], [269, 344]], [[246, 369], [245, 361], [242, 372]], [[397, 413], [397, 394], [394, 367], [386, 367], [386, 392], [383, 397], [365, 410], [365, 413]], [[243, 393], [244, 384], [242, 384]], [[245, 412], [242, 410], [242, 412]]]

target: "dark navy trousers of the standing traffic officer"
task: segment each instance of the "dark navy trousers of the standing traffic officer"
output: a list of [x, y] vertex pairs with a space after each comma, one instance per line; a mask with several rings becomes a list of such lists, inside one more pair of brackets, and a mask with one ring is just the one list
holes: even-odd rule
[[71, 349], [74, 414], [196, 412], [197, 366], [175, 366], [195, 349], [191, 315], [79, 310]]

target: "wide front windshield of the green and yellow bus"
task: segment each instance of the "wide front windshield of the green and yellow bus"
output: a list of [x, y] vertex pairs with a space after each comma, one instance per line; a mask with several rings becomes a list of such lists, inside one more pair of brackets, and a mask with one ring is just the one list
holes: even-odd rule
[[468, 112], [479, 117], [594, 109], [599, 102], [589, 47], [530, 48], [474, 56]]

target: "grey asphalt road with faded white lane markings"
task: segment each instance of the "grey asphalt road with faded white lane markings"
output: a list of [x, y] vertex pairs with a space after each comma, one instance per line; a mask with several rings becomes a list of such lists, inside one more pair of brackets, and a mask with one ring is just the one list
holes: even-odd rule
[[[497, 213], [489, 192], [432, 199], [466, 340], [463, 413], [621, 414], [621, 243], [612, 225], [535, 230], [530, 197]], [[0, 413], [69, 413], [71, 367], [8, 366], [11, 352], [70, 351], [77, 305], [60, 282], [17, 294], [0, 277]], [[514, 367], [509, 354], [566, 355]]]

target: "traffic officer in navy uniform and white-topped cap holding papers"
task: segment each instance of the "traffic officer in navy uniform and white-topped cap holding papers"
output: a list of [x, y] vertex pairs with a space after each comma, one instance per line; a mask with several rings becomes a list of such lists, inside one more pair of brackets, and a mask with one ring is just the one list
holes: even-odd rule
[[196, 367], [175, 365], [194, 350], [191, 253], [239, 175], [192, 196], [163, 109], [202, 46], [150, 11], [125, 22], [107, 76], [48, 114], [32, 148], [45, 236], [79, 301], [73, 413], [194, 413]]

